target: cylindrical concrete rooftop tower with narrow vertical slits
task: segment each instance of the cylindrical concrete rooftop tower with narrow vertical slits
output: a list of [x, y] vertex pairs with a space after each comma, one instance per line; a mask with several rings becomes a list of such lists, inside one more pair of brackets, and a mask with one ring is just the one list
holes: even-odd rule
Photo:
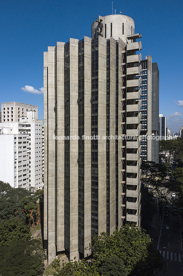
[[91, 37], [101, 36], [107, 39], [120, 38], [125, 43], [127, 36], [135, 33], [135, 23], [132, 18], [123, 14], [99, 16], [92, 24]]

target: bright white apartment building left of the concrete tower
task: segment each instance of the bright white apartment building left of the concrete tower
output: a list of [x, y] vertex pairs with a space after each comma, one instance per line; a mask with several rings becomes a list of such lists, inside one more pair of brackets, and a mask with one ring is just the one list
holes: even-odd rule
[[43, 187], [43, 122], [35, 116], [35, 111], [27, 111], [19, 122], [0, 124], [0, 180], [12, 187]]

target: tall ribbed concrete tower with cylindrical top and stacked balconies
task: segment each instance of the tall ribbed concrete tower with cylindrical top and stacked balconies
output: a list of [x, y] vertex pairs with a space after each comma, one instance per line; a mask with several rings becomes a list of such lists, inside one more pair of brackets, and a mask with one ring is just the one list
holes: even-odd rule
[[86, 257], [92, 237], [140, 227], [141, 38], [126, 15], [44, 53], [44, 240]]

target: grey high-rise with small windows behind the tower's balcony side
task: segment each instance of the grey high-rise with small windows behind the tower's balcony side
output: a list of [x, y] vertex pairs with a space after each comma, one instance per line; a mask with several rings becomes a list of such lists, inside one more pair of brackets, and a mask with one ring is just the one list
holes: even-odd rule
[[159, 70], [151, 56], [141, 66], [141, 158], [159, 163]]

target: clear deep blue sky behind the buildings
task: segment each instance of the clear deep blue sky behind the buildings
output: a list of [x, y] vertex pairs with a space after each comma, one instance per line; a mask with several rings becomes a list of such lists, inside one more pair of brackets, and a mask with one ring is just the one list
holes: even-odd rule
[[[1, 1], [0, 102], [38, 106], [44, 118], [43, 52], [57, 41], [91, 37], [98, 15], [112, 14], [111, 1]], [[159, 113], [167, 116], [171, 132], [183, 125], [183, 2], [113, 1], [113, 12], [130, 16], [142, 34], [143, 59], [151, 55], [159, 67]], [[27, 92], [28, 87], [30, 92]], [[24, 88], [24, 90], [22, 89]], [[33, 93], [34, 92], [34, 93]]]

